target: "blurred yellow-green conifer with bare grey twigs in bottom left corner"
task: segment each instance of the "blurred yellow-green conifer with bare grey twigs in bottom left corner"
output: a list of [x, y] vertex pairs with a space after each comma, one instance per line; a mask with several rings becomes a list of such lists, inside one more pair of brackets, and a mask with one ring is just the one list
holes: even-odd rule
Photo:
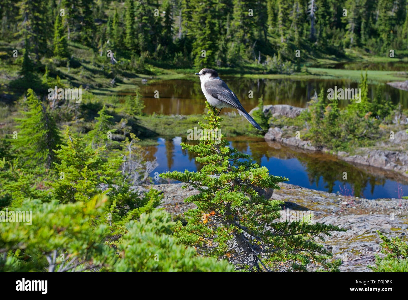
[[102, 212], [100, 201], [83, 205], [26, 200], [20, 209], [33, 212], [32, 224], [2, 223], [0, 247], [6, 255], [0, 256], [0, 271], [78, 272], [115, 261], [113, 249], [103, 244], [108, 224], [92, 225]]

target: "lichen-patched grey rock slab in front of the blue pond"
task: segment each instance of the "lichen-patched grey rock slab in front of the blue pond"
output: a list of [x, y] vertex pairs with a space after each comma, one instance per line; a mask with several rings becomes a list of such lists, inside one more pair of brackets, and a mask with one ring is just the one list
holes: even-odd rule
[[[181, 183], [157, 184], [135, 187], [140, 192], [151, 187], [163, 191], [164, 207], [173, 218], [182, 218], [188, 209], [195, 208], [193, 203], [184, 203], [188, 196], [199, 191]], [[380, 230], [389, 237], [399, 236], [407, 241], [408, 205], [401, 199], [368, 200], [352, 196], [339, 196], [324, 191], [306, 189], [292, 184], [280, 183], [272, 199], [282, 200], [282, 212], [313, 211], [314, 222], [330, 223], [348, 229], [335, 232], [326, 241], [321, 242], [332, 251], [333, 258], [341, 258], [341, 271], [370, 272], [367, 265], [374, 264], [374, 255], [379, 253], [381, 240], [376, 232]], [[379, 253], [381, 256], [381, 253]]]

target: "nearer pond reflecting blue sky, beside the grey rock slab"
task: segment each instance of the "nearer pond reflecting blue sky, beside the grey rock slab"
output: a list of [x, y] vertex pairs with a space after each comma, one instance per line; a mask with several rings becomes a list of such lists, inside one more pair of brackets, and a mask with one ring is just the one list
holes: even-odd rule
[[[180, 137], [158, 138], [157, 142], [157, 146], [146, 147], [146, 158], [156, 157], [159, 164], [150, 174], [152, 178], [154, 172], [200, 169], [201, 165], [195, 162], [191, 153], [181, 148]], [[271, 174], [289, 178], [290, 184], [367, 199], [408, 196], [408, 180], [394, 172], [354, 166], [322, 153], [300, 153], [263, 139], [235, 139], [230, 141], [230, 147], [250, 154]], [[347, 172], [347, 180], [342, 179], [343, 172]]]

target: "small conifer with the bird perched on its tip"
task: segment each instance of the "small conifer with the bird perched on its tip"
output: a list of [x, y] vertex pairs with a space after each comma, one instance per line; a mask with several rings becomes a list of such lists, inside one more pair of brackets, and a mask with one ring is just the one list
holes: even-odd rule
[[[207, 104], [207, 123], [200, 125], [207, 132], [220, 130], [215, 108]], [[182, 147], [197, 154], [196, 161], [204, 166], [200, 171], [179, 171], [161, 174], [163, 178], [185, 182], [200, 191], [185, 202], [196, 209], [185, 213], [187, 225], [178, 221], [175, 236], [188, 246], [197, 248], [203, 256], [226, 259], [237, 270], [248, 271], [307, 271], [309, 267], [337, 269], [339, 261], [326, 260], [332, 254], [314, 238], [330, 236], [340, 231], [328, 224], [279, 222], [283, 202], [271, 200], [271, 190], [287, 178], [269, 174], [249, 155], [228, 147], [228, 141], [209, 139], [199, 144], [182, 143]]]

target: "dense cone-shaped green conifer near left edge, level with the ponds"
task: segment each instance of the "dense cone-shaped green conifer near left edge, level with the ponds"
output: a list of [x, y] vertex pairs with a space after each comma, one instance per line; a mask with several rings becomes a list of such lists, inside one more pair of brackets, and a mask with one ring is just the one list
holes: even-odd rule
[[24, 165], [51, 167], [55, 161], [53, 149], [60, 144], [59, 130], [54, 118], [38, 100], [32, 89], [27, 91], [27, 111], [21, 111], [23, 118], [16, 118], [18, 138], [15, 149], [21, 151]]

